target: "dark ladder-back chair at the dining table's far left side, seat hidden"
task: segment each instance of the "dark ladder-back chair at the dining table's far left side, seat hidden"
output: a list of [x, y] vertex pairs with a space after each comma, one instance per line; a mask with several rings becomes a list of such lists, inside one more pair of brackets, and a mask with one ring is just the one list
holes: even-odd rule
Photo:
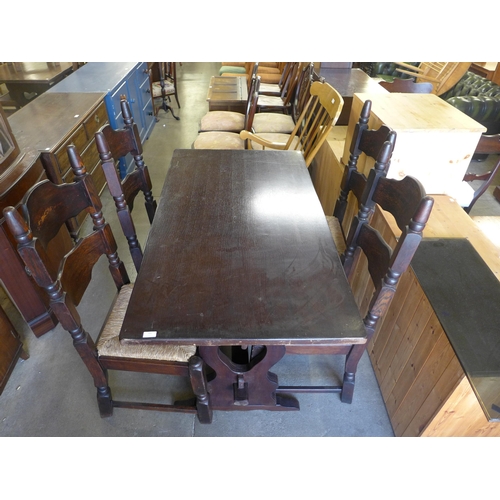
[[[95, 134], [95, 144], [106, 176], [109, 192], [115, 201], [118, 219], [127, 238], [134, 266], [139, 271], [142, 262], [142, 249], [137, 239], [131, 212], [134, 208], [136, 196], [142, 191], [149, 222], [152, 224], [156, 212], [156, 200], [152, 193], [148, 167], [142, 157], [139, 130], [134, 123], [125, 96], [121, 96], [120, 106], [123, 121], [125, 122], [124, 128], [114, 130], [110, 125], [102, 127]], [[135, 168], [123, 180], [120, 180], [116, 163], [119, 158], [128, 153], [131, 153], [134, 157]]]

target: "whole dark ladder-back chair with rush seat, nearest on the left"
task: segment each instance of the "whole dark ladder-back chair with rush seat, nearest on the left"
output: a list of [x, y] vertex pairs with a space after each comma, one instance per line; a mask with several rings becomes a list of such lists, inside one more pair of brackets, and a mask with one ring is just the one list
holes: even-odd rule
[[[55, 185], [48, 180], [42, 181], [28, 191], [19, 211], [7, 207], [3, 213], [27, 272], [47, 293], [51, 310], [70, 333], [75, 349], [94, 380], [101, 417], [109, 417], [114, 407], [121, 407], [198, 412], [200, 420], [210, 421], [208, 399], [193, 399], [182, 404], [113, 400], [107, 370], [186, 376], [191, 378], [196, 391], [205, 380], [194, 345], [151, 347], [120, 344], [118, 335], [133, 285], [117, 254], [111, 228], [104, 220], [95, 185], [74, 146], [68, 147], [68, 156], [75, 182]], [[82, 237], [61, 261], [54, 262], [48, 250], [50, 241], [68, 218], [75, 217], [82, 210], [92, 217], [93, 231]], [[91, 281], [92, 269], [102, 255], [107, 257], [117, 296], [101, 332], [91, 336], [81, 323], [77, 306]]]

